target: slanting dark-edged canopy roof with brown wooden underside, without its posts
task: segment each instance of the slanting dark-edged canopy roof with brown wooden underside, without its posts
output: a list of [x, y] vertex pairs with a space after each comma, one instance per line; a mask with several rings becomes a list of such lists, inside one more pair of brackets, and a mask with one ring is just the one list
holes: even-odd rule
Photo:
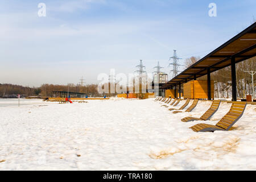
[[243, 30], [240, 34], [234, 36], [228, 42], [210, 52], [191, 67], [185, 69], [172, 80], [160, 87], [168, 89], [171, 86], [183, 84], [194, 77], [207, 75], [207, 69], [210, 72], [217, 71], [231, 65], [231, 58], [235, 57], [236, 63], [256, 56], [256, 23]]

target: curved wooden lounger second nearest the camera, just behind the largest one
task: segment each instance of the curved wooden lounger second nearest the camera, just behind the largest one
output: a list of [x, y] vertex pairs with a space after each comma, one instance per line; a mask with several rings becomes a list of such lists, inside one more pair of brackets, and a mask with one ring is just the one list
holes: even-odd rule
[[183, 122], [189, 122], [189, 121], [195, 121], [195, 120], [201, 120], [201, 121], [207, 121], [210, 119], [214, 113], [218, 110], [218, 107], [220, 106], [220, 100], [213, 100], [212, 105], [210, 108], [200, 117], [200, 118], [194, 118], [194, 117], [185, 117], [181, 119]]

